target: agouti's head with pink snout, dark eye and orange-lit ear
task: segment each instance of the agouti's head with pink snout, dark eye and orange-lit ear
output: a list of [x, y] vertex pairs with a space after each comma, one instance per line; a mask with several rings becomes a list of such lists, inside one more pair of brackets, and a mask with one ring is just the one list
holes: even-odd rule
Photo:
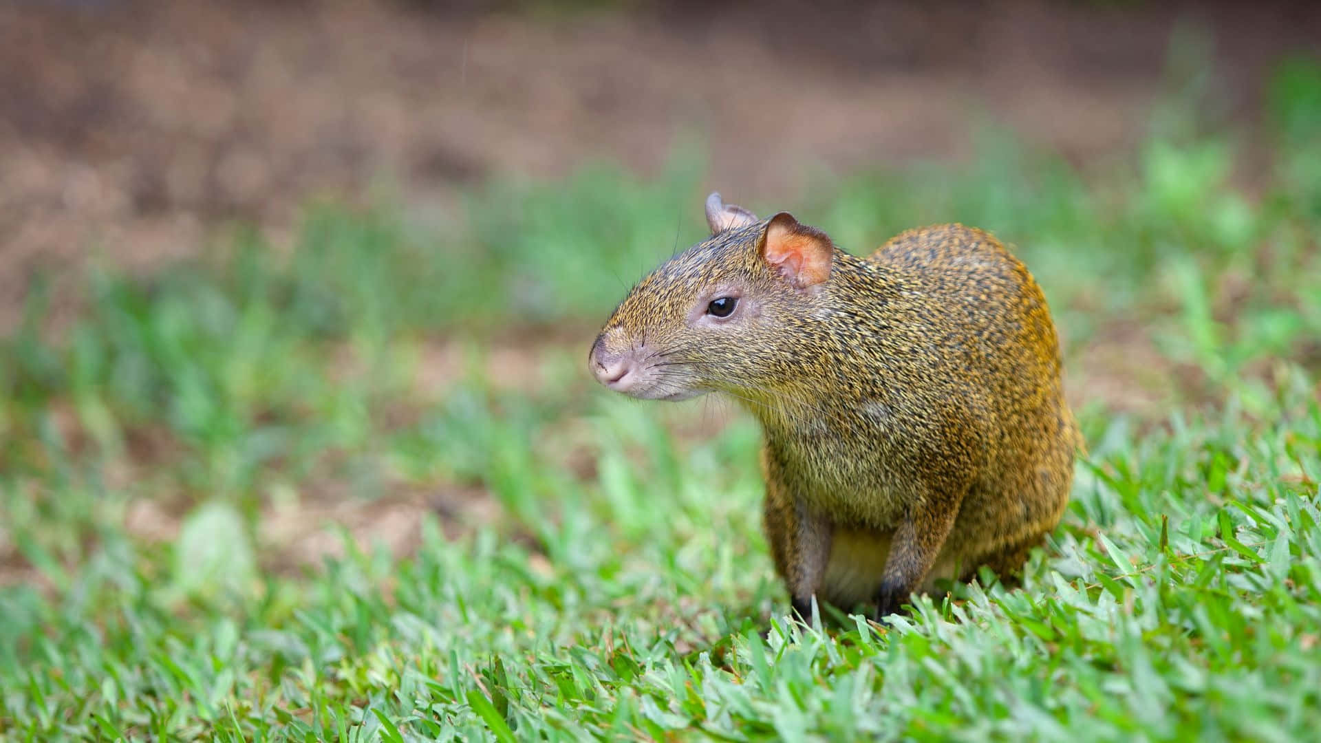
[[[757, 219], [707, 198], [711, 238], [671, 258], [620, 304], [588, 366], [606, 387], [642, 399], [724, 391], [778, 397], [793, 378], [799, 333], [823, 316], [836, 249], [824, 233], [781, 212]], [[841, 254], [840, 254], [841, 255]]]

